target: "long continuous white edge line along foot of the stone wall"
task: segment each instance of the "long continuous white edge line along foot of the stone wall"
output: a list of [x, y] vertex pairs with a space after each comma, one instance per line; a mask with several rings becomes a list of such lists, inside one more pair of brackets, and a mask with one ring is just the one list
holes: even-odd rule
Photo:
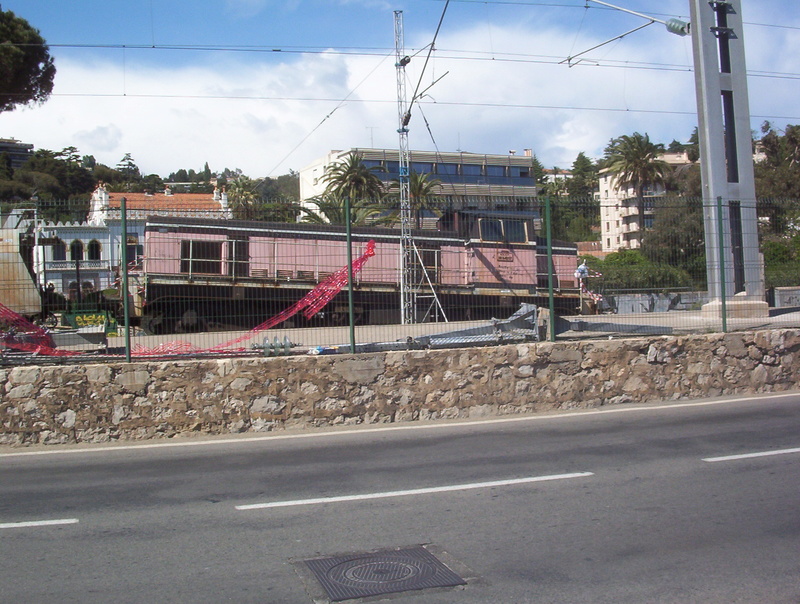
[[515, 417], [496, 417], [483, 420], [467, 421], [437, 421], [430, 424], [391, 424], [381, 428], [355, 428], [344, 430], [308, 431], [294, 434], [271, 434], [269, 436], [241, 437], [241, 438], [220, 438], [210, 440], [191, 440], [191, 441], [170, 441], [170, 442], [151, 442], [146, 444], [104, 446], [104, 447], [78, 447], [75, 449], [42, 449], [37, 451], [14, 451], [13, 453], [0, 453], [0, 459], [6, 457], [35, 457], [40, 455], [76, 455], [81, 453], [107, 453], [110, 451], [136, 451], [140, 449], [166, 449], [183, 447], [213, 447], [218, 445], [245, 445], [272, 440], [296, 440], [301, 438], [331, 438], [356, 436], [359, 434], [377, 434], [380, 432], [408, 431], [408, 430], [448, 430], [459, 428], [472, 428], [476, 426], [489, 426], [493, 424], [510, 424], [518, 422], [538, 422], [551, 421], [564, 418], [576, 418], [587, 415], [604, 415], [607, 413], [643, 413], [648, 411], [663, 411], [665, 409], [687, 409], [693, 407], [711, 407], [716, 405], [728, 405], [731, 403], [741, 403], [747, 400], [770, 400], [778, 398], [798, 397], [799, 392], [784, 392], [780, 394], [769, 394], [760, 396], [748, 396], [738, 398], [719, 399], [711, 401], [696, 402], [677, 402], [677, 403], [642, 403], [641, 406], [619, 406], [606, 407], [603, 409], [573, 410], [564, 413], [548, 413], [547, 415], [522, 415]]

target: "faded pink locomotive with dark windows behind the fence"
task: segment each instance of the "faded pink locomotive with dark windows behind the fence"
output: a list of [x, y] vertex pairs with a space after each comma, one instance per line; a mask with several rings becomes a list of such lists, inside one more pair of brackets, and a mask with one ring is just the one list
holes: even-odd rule
[[[547, 305], [546, 242], [530, 212], [446, 214], [438, 229], [412, 232], [411, 289], [420, 321], [504, 318], [522, 302]], [[400, 230], [354, 227], [352, 258], [375, 241], [354, 277], [356, 318], [400, 318]], [[578, 305], [575, 244], [553, 242], [554, 287], [562, 312]], [[149, 333], [251, 328], [281, 312], [347, 265], [341, 226], [151, 217], [139, 294]], [[433, 304], [432, 300], [438, 300]], [[296, 326], [346, 324], [347, 291]]]

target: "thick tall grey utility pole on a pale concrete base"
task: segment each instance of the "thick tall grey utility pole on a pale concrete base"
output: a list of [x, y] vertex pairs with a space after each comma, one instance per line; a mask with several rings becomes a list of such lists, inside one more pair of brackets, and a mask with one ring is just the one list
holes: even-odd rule
[[718, 313], [723, 297], [735, 294], [732, 302], [725, 302], [729, 316], [767, 316], [741, 0], [690, 2], [706, 267], [712, 297], [704, 311]]

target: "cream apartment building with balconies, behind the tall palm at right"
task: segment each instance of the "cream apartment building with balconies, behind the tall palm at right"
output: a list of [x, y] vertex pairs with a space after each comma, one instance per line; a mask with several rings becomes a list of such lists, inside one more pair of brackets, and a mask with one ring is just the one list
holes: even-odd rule
[[[674, 168], [688, 166], [686, 153], [665, 153], [659, 159]], [[642, 226], [636, 190], [632, 186], [617, 188], [617, 174], [608, 169], [601, 170], [600, 187], [600, 228], [603, 252], [616, 252], [620, 249], [636, 249], [641, 246]], [[663, 197], [663, 185], [653, 185], [645, 190], [644, 227], [653, 226], [653, 200]]]

